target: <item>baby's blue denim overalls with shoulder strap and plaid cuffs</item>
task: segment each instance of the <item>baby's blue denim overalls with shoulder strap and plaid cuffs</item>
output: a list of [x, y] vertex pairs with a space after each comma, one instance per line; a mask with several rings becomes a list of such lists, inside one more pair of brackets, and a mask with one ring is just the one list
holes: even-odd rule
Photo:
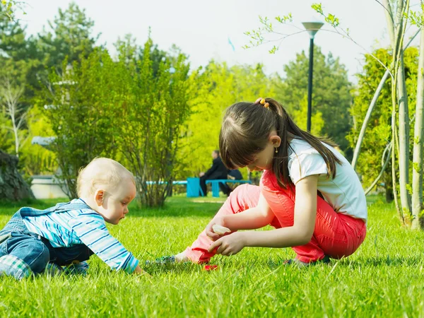
[[0, 231], [0, 275], [21, 279], [31, 273], [42, 273], [49, 263], [64, 266], [74, 261], [86, 261], [93, 254], [86, 245], [54, 248], [45, 237], [29, 232], [23, 223], [25, 215], [42, 215], [78, 208], [89, 207], [81, 204], [57, 204], [46, 210], [21, 208], [16, 212]]

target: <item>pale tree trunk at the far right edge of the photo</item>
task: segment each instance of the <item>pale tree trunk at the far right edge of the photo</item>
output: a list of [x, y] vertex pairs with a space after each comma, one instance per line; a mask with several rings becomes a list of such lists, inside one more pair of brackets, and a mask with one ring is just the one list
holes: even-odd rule
[[418, 60], [416, 122], [413, 139], [412, 169], [412, 228], [422, 227], [423, 210], [423, 139], [424, 139], [424, 27], [421, 27], [420, 57]]

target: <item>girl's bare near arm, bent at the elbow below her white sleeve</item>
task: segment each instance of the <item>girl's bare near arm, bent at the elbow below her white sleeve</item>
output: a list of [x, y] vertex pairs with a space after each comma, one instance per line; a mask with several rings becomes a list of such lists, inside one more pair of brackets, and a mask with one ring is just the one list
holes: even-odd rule
[[[261, 232], [236, 232], [213, 243], [223, 255], [236, 254], [243, 247], [292, 247], [310, 242], [317, 218], [318, 175], [301, 179], [296, 184], [295, 218], [293, 226]], [[245, 213], [245, 212], [243, 212]], [[242, 216], [243, 213], [240, 213]], [[238, 216], [235, 215], [235, 216]]]

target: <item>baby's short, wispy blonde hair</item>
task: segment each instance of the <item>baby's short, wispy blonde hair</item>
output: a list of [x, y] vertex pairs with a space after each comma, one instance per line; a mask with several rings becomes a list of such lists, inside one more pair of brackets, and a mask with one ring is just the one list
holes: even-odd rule
[[116, 187], [127, 178], [136, 184], [134, 175], [117, 161], [95, 158], [80, 169], [76, 180], [76, 191], [79, 197], [94, 194], [101, 185]]

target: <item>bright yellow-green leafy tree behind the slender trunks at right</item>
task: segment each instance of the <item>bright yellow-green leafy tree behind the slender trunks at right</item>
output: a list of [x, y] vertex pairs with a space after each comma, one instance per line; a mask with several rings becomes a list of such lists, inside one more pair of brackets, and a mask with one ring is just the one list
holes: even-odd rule
[[[372, 54], [385, 66], [389, 66], [391, 63], [391, 51], [389, 49], [377, 49]], [[358, 73], [358, 88], [354, 90], [355, 97], [351, 107], [354, 124], [350, 134], [348, 134], [348, 140], [352, 147], [358, 144], [359, 131], [363, 126], [365, 114], [368, 112], [368, 105], [374, 97], [375, 88], [379, 85], [380, 78], [386, 71], [384, 66], [374, 57], [365, 54], [363, 71]], [[415, 104], [413, 91], [416, 89], [417, 57], [418, 51], [416, 48], [411, 47], [404, 52], [406, 90], [408, 92], [409, 112], [411, 113], [413, 113], [413, 105]], [[369, 187], [377, 179], [381, 171], [381, 163], [383, 161], [384, 164], [384, 160], [387, 158], [388, 153], [384, 150], [391, 143], [391, 115], [391, 83], [390, 78], [387, 78], [379, 93], [379, 98], [376, 100], [374, 110], [370, 114], [367, 124], [367, 138], [363, 140], [361, 155], [358, 157], [358, 164], [356, 165], [356, 171], [360, 174], [365, 187]], [[394, 198], [391, 163], [387, 165], [386, 172], [382, 174], [382, 182], [384, 183], [387, 201], [392, 201]]]

